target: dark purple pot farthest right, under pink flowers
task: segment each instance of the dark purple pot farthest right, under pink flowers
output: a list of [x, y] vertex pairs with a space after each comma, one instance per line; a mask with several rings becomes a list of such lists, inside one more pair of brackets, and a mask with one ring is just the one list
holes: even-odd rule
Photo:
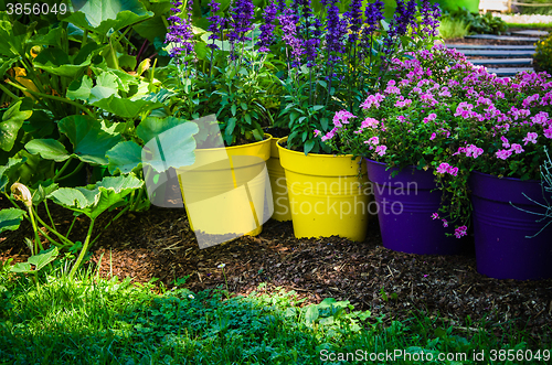
[[[537, 280], [552, 278], [552, 225], [534, 238], [546, 222], [535, 222], [545, 208], [539, 181], [473, 172], [469, 181], [474, 206], [477, 271], [496, 279]], [[548, 196], [552, 201], [552, 194]]]

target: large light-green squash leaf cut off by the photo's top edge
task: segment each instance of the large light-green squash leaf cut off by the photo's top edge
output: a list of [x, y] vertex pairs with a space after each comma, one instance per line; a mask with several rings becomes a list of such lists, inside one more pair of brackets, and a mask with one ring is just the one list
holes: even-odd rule
[[152, 17], [138, 0], [88, 0], [66, 21], [105, 35]]

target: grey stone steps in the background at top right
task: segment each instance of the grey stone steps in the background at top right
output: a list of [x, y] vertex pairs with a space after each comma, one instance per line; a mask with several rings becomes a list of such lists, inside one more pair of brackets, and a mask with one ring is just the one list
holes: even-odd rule
[[[467, 35], [466, 39], [488, 40], [500, 44], [447, 43], [447, 47], [464, 53], [474, 65], [485, 66], [489, 73], [497, 74], [497, 76], [514, 76], [523, 71], [533, 71], [534, 44], [540, 36], [546, 34], [545, 31], [532, 30], [512, 32], [511, 35], [475, 34]], [[517, 44], [508, 44], [508, 42]]]

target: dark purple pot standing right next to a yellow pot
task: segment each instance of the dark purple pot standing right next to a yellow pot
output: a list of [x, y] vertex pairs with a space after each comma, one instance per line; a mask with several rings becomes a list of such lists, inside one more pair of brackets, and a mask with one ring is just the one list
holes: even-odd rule
[[[461, 251], [465, 240], [447, 237], [445, 233], [454, 229], [444, 228], [440, 219], [432, 219], [442, 196], [440, 191], [432, 192], [436, 189], [432, 172], [406, 168], [391, 178], [393, 170], [385, 171], [385, 163], [365, 160], [384, 247], [420, 255]], [[369, 212], [374, 213], [374, 208]]]

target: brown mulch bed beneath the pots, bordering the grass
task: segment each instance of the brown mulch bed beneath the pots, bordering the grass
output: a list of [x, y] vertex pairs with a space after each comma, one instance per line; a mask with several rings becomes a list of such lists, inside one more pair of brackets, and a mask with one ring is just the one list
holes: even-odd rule
[[[0, 198], [0, 207], [8, 207]], [[53, 205], [53, 204], [51, 204]], [[60, 232], [66, 232], [71, 212], [51, 206]], [[349, 300], [357, 310], [385, 314], [385, 321], [412, 318], [412, 311], [439, 313], [450, 325], [466, 329], [466, 319], [486, 321], [497, 333], [510, 326], [524, 329], [534, 340], [550, 343], [552, 323], [552, 280], [497, 280], [479, 275], [468, 247], [463, 256], [420, 256], [382, 246], [378, 219], [369, 224], [362, 243], [340, 237], [297, 239], [290, 222], [268, 221], [257, 237], [241, 237], [231, 243], [200, 250], [183, 208], [151, 207], [129, 213], [103, 229], [116, 212], [105, 213], [94, 235], [92, 261], [102, 258], [102, 277], [131, 277], [135, 282], [158, 278], [168, 288], [176, 279], [190, 276], [185, 286], [192, 291], [225, 287], [247, 294], [266, 282], [266, 289], [295, 290], [306, 303], [323, 298]], [[84, 240], [87, 218], [78, 218], [72, 239]], [[0, 260], [24, 261], [29, 249], [23, 237], [32, 235], [23, 223], [17, 232], [0, 237]], [[12, 262], [13, 264], [13, 262]], [[382, 291], [388, 300], [384, 300]], [[396, 296], [396, 297], [395, 297]], [[548, 340], [544, 340], [548, 339]]]

